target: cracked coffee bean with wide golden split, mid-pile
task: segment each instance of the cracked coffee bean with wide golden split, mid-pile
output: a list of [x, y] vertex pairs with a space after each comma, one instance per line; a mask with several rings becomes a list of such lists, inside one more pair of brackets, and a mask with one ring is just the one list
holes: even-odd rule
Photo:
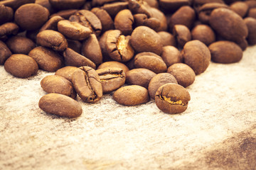
[[130, 36], [121, 35], [120, 30], [110, 30], [106, 38], [107, 54], [118, 62], [127, 62], [134, 56]]

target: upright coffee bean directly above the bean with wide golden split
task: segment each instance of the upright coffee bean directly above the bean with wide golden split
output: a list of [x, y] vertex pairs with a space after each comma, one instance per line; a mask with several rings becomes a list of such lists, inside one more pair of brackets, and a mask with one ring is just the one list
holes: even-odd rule
[[134, 17], [129, 9], [124, 9], [114, 17], [114, 28], [120, 30], [123, 35], [131, 35]]

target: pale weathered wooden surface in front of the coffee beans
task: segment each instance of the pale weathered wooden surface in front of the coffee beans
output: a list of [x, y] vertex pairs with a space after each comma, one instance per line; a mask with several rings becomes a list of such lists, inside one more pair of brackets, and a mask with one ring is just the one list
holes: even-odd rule
[[256, 47], [210, 63], [187, 89], [186, 112], [153, 100], [120, 106], [105, 95], [77, 119], [38, 108], [48, 73], [18, 79], [0, 66], [0, 169], [255, 169]]

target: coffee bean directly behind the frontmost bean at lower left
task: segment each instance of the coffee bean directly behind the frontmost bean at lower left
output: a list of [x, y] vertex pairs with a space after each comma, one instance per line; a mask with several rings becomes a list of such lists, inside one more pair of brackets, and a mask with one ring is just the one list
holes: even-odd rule
[[64, 77], [58, 75], [50, 75], [44, 77], [41, 82], [41, 87], [46, 93], [55, 93], [55, 94], [63, 94], [65, 96], [69, 96], [70, 98], [76, 98], [77, 94], [73, 85], [70, 81], [65, 79]]

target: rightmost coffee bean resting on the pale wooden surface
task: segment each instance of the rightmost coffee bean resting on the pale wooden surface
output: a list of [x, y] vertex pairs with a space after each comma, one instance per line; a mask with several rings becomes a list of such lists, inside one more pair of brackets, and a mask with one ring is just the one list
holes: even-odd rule
[[242, 59], [242, 49], [231, 41], [217, 41], [209, 45], [211, 60], [218, 63], [239, 62]]

